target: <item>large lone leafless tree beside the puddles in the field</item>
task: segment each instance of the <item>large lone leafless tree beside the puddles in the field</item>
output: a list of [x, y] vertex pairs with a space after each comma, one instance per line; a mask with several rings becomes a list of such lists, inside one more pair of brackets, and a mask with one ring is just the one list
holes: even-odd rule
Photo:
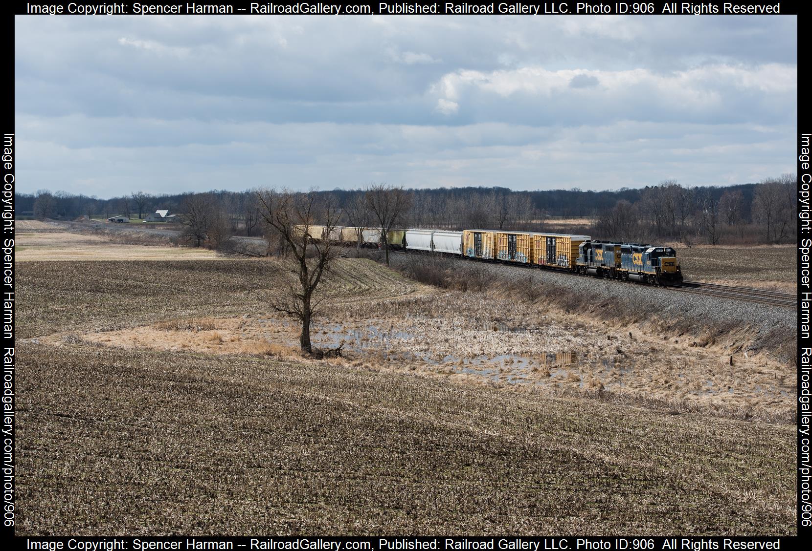
[[299, 345], [302, 352], [313, 354], [310, 327], [313, 316], [324, 296], [316, 296], [319, 284], [330, 271], [330, 264], [341, 254], [341, 249], [330, 239], [313, 240], [310, 226], [321, 221], [330, 235], [339, 221], [339, 211], [327, 196], [310, 191], [306, 194], [283, 190], [257, 192], [261, 216], [268, 228], [287, 244], [292, 255], [291, 272], [296, 282], [288, 292], [272, 304], [278, 312], [291, 315], [301, 322]]

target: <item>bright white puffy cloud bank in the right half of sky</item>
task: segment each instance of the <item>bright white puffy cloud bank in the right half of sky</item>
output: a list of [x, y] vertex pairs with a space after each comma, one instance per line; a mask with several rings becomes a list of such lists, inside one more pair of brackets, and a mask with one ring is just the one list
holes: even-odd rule
[[[598, 86], [599, 84], [599, 86]], [[578, 125], [622, 119], [655, 122], [782, 122], [796, 117], [797, 67], [711, 65], [659, 72], [456, 70], [430, 86], [437, 105], [499, 120]], [[468, 109], [469, 106], [477, 109]], [[742, 109], [748, 105], [746, 109]], [[470, 122], [470, 121], [464, 121]]]

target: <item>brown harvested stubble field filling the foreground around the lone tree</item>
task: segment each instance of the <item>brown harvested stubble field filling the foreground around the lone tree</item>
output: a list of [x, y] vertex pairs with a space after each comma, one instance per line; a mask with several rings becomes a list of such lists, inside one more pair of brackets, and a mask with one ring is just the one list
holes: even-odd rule
[[[570, 378], [566, 393], [462, 377], [447, 361], [296, 357], [268, 307], [273, 260], [16, 268], [19, 534], [796, 531], [792, 425], [676, 395], [602, 399]], [[339, 261], [327, 289], [319, 338], [333, 345], [335, 323], [476, 332], [464, 320], [484, 302], [431, 321], [461, 293], [364, 259]], [[541, 315], [555, 326], [543, 349], [562, 335], [598, 346], [589, 324]], [[147, 347], [145, 327], [191, 344]], [[490, 354], [488, 331], [481, 350], [443, 346]]]

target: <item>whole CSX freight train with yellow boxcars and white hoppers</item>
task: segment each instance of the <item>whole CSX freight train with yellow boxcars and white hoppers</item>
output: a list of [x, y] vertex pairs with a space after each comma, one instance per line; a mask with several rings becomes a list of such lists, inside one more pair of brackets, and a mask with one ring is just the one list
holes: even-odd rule
[[[382, 229], [309, 226], [310, 237], [380, 246]], [[588, 235], [514, 232], [494, 229], [393, 229], [387, 241], [395, 250], [449, 254], [490, 262], [525, 264], [581, 275], [648, 284], [680, 284], [682, 271], [672, 247], [594, 241]]]

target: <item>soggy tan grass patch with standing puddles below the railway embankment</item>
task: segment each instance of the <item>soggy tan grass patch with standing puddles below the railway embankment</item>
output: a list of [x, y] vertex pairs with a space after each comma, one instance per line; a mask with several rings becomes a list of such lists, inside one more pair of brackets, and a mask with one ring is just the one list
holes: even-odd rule
[[[354, 310], [344, 322], [313, 327], [317, 348], [373, 369], [465, 378], [484, 384], [547, 391], [611, 391], [650, 399], [682, 400], [711, 408], [792, 408], [795, 377], [780, 365], [742, 357], [729, 365], [713, 348], [654, 340], [571, 318], [543, 314], [525, 325], [508, 313], [500, 320], [477, 315], [425, 315], [442, 297], [388, 305], [401, 315]], [[458, 307], [463, 304], [458, 303]], [[464, 310], [464, 309], [463, 309]], [[408, 315], [407, 315], [408, 314]], [[299, 327], [285, 318], [171, 320], [151, 326], [84, 335], [53, 335], [55, 343], [158, 348], [214, 354], [298, 357]]]

